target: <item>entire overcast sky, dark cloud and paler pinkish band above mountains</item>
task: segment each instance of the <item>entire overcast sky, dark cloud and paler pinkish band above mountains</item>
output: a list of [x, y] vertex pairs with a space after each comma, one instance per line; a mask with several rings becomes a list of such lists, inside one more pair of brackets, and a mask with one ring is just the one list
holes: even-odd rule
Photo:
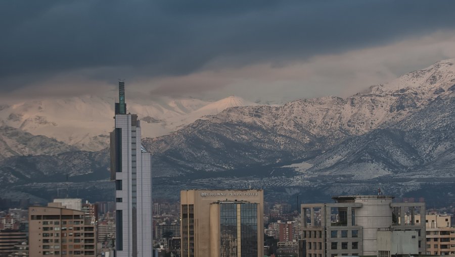
[[[346, 97], [455, 57], [455, 1], [0, 1], [3, 99]], [[132, 93], [134, 92], [134, 93]]]

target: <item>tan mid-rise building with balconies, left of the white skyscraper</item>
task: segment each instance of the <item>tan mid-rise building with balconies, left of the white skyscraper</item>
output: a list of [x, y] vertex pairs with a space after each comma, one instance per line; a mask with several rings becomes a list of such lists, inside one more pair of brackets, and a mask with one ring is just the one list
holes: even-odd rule
[[29, 251], [33, 256], [96, 256], [96, 227], [84, 212], [49, 203], [29, 208]]

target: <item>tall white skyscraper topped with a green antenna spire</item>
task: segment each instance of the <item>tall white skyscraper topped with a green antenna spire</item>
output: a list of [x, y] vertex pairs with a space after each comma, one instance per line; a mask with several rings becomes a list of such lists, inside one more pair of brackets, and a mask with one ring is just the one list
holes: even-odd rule
[[111, 132], [111, 179], [115, 180], [116, 256], [152, 256], [151, 154], [141, 144], [138, 115], [126, 113], [119, 81], [115, 130]]

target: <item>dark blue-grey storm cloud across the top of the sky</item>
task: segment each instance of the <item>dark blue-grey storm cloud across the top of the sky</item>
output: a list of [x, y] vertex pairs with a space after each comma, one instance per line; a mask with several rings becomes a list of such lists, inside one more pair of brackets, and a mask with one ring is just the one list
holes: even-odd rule
[[[186, 75], [385, 44], [455, 26], [455, 1], [1, 1], [0, 78]], [[223, 59], [217, 62], [217, 59]]]

